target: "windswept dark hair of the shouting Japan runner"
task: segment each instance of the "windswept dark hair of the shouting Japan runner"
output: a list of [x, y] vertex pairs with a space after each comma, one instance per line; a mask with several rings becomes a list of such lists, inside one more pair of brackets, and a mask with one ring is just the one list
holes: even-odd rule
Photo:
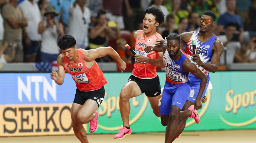
[[159, 23], [162, 24], [164, 22], [164, 13], [163, 10], [156, 6], [151, 6], [147, 8], [145, 11], [145, 14], [152, 14], [155, 16], [155, 20]]

